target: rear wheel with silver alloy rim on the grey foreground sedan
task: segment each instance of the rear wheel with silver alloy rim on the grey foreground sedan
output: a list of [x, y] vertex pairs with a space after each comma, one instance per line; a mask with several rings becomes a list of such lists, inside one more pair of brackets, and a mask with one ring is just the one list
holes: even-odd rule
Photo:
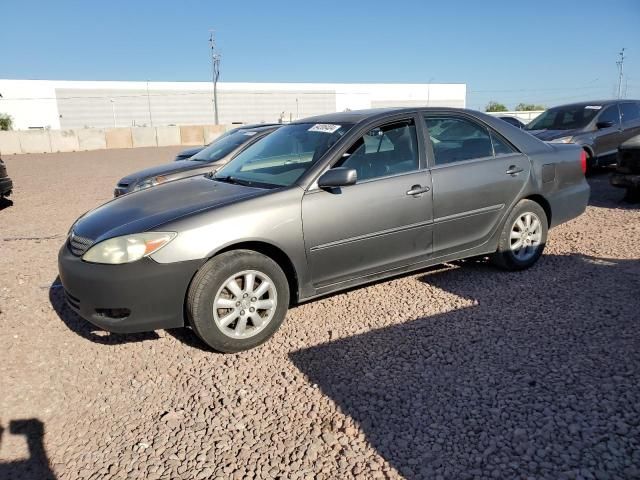
[[[530, 224], [527, 225], [527, 218]], [[538, 225], [535, 220], [537, 219]], [[524, 229], [522, 228], [524, 226]], [[519, 238], [525, 247], [517, 248]], [[514, 234], [514, 238], [512, 237]], [[524, 270], [538, 261], [547, 242], [547, 214], [540, 204], [532, 200], [520, 200], [502, 227], [498, 249], [491, 261], [505, 270]], [[520, 237], [516, 236], [520, 234]], [[515, 247], [515, 248], [514, 248]]]

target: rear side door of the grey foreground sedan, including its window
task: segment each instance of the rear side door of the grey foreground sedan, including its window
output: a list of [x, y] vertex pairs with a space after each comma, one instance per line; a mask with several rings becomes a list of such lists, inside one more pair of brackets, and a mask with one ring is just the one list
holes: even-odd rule
[[529, 159], [481, 122], [427, 113], [433, 183], [433, 254], [486, 242], [523, 190]]

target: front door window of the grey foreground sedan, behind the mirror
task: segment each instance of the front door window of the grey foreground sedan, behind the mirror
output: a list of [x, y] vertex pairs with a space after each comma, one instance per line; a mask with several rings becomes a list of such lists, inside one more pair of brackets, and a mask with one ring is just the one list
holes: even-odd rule
[[412, 172], [418, 166], [418, 139], [413, 120], [368, 131], [334, 165], [355, 169], [358, 182]]

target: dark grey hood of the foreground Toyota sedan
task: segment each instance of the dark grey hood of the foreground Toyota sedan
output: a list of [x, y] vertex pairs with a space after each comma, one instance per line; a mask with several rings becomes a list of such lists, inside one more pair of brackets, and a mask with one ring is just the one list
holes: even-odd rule
[[268, 192], [217, 182], [205, 176], [190, 177], [115, 198], [80, 217], [73, 225], [73, 231], [98, 242], [151, 230], [199, 211]]

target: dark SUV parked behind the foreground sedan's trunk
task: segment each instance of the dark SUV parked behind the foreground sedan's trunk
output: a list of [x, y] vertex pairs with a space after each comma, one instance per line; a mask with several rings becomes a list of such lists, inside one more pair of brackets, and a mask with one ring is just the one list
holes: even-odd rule
[[606, 100], [553, 107], [526, 131], [552, 143], [576, 143], [587, 152], [587, 167], [616, 163], [618, 146], [640, 133], [640, 101]]

